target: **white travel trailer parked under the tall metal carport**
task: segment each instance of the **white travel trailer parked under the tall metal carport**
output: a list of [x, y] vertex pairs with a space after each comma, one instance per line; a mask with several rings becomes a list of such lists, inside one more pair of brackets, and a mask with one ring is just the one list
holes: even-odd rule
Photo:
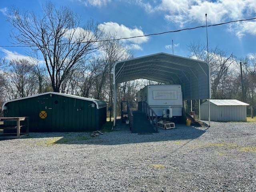
[[143, 101], [157, 116], [182, 116], [181, 85], [148, 85], [137, 93], [138, 110], [141, 110]]

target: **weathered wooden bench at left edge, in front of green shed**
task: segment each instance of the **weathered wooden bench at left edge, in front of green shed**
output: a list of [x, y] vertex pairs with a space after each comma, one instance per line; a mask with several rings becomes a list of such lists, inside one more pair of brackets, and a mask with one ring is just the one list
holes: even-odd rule
[[[5, 125], [0, 124], [0, 129], [2, 130], [16, 130], [13, 133], [0, 133], [0, 139], [10, 139], [10, 138], [21, 138], [28, 135], [29, 131], [29, 121], [28, 117], [0, 117], [0, 121], [2, 122], [16, 122], [16, 125]], [[25, 122], [26, 124], [21, 124], [21, 122]], [[21, 132], [21, 128], [25, 127], [26, 132]]]

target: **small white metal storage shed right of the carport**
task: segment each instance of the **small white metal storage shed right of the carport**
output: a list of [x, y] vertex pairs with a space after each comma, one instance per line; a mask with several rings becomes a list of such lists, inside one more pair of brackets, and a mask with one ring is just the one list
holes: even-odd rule
[[[246, 106], [249, 104], [236, 99], [210, 99], [211, 121], [246, 121]], [[208, 120], [208, 101], [200, 105], [201, 120]]]

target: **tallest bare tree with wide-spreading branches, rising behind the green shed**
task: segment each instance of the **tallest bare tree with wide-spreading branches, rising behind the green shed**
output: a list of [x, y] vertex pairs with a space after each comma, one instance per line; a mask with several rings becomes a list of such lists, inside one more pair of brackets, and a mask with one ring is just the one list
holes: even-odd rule
[[102, 33], [97, 25], [90, 20], [86, 26], [79, 27], [80, 20], [70, 9], [56, 9], [51, 3], [44, 6], [43, 16], [21, 13], [16, 8], [8, 16], [16, 43], [29, 46], [43, 56], [54, 92], [60, 92], [66, 76], [101, 46], [96, 42]]

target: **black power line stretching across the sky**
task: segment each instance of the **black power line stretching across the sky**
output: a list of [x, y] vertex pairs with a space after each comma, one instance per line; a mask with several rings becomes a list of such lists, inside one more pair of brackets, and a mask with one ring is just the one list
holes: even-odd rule
[[[223, 22], [223, 23], [218, 23], [218, 24], [207, 25], [207, 27], [220, 26], [220, 25], [224, 25], [224, 24], [229, 24], [229, 23], [234, 23], [234, 22], [241, 22], [241, 21], [249, 21], [249, 20], [254, 20], [254, 19], [256, 19], [256, 17], [250, 18], [250, 19], [240, 19], [240, 20], [234, 20], [234, 21], [228, 21], [228, 22]], [[202, 26], [196, 26], [196, 27], [192, 27], [192, 28], [183, 28], [183, 29], [178, 29], [178, 30], [173, 30], [173, 31], [152, 33], [152, 34], [148, 34], [148, 35], [140, 35], [140, 36], [132, 36], [132, 37], [124, 37], [124, 38], [116, 38], [116, 39], [106, 39], [106, 40], [85, 41], [85, 42], [63, 43], [63, 44], [59, 44], [59, 45], [126, 40], [126, 39], [139, 38], [139, 37], [162, 35], [162, 34], [166, 34], [166, 33], [181, 32], [181, 31], [185, 31], [185, 30], [193, 30], [193, 29], [205, 28], [205, 27], [206, 27], [206, 25], [202, 25]], [[42, 47], [42, 48], [44, 47], [43, 45], [39, 45], [39, 46]], [[54, 45], [49, 44], [48, 46], [54, 46]], [[28, 45], [0, 45], [0, 47], [38, 47], [38, 46], [35, 46], [35, 45], [30, 45], [30, 46], [28, 46]]]

